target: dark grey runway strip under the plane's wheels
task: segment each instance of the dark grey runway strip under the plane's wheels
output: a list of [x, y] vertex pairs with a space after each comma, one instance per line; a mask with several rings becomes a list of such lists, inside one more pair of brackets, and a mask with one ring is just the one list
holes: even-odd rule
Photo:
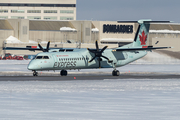
[[0, 76], [0, 81], [71, 81], [71, 80], [116, 80], [116, 79], [180, 79], [180, 74], [121, 74], [120, 76], [112, 76], [105, 74], [70, 74], [68, 76], [60, 76], [57, 74], [41, 74], [32, 76], [30, 74], [19, 74], [16, 76]]

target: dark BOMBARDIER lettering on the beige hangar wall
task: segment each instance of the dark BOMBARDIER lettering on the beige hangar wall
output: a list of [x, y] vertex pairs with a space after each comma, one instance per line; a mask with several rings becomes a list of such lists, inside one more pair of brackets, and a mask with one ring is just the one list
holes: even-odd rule
[[103, 33], [133, 33], [133, 25], [103, 25]]

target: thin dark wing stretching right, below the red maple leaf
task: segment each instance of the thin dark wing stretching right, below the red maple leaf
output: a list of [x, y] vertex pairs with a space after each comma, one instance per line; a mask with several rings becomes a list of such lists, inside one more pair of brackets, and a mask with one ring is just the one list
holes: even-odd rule
[[167, 49], [172, 47], [152, 47], [152, 46], [145, 46], [143, 48], [118, 48], [114, 49], [114, 51], [140, 51], [140, 50], [155, 50], [155, 49]]

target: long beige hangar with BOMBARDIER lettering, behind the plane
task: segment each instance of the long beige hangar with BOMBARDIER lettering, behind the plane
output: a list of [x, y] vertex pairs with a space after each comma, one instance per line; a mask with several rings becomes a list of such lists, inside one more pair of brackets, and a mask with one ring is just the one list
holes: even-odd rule
[[[7, 47], [37, 46], [37, 43], [51, 41], [51, 47], [75, 48], [78, 43], [82, 43], [81, 47], [92, 48], [98, 40], [102, 47], [104, 44], [118, 47], [133, 42], [137, 28], [136, 22], [2, 19], [0, 42], [1, 46]], [[8, 42], [9, 36], [17, 38], [21, 43]], [[151, 24], [148, 45], [172, 46], [174, 48], [171, 51], [180, 51], [180, 24]]]

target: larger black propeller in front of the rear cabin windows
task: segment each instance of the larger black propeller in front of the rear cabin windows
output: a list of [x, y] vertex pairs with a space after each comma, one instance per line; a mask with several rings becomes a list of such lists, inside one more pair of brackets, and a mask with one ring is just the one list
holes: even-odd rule
[[96, 45], [96, 51], [87, 48], [87, 49], [89, 50], [89, 52], [92, 52], [92, 53], [95, 54], [95, 56], [89, 61], [89, 63], [92, 62], [92, 61], [97, 57], [97, 58], [98, 58], [98, 61], [99, 61], [99, 68], [101, 68], [101, 60], [102, 60], [101, 57], [107, 59], [108, 62], [109, 62], [109, 59], [108, 59], [106, 56], [103, 56], [103, 55], [102, 55], [102, 53], [104, 52], [104, 50], [105, 50], [108, 46], [105, 46], [102, 50], [99, 50], [99, 46], [98, 46], [97, 40], [96, 40], [96, 42], [95, 42], [95, 45]]

